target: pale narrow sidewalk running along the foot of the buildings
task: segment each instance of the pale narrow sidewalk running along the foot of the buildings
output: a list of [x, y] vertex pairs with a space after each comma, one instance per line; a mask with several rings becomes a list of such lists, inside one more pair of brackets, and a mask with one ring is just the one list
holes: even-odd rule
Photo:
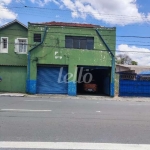
[[53, 99], [81, 99], [81, 100], [106, 100], [106, 101], [135, 101], [135, 102], [150, 102], [150, 97], [109, 97], [109, 96], [68, 96], [68, 95], [58, 95], [58, 94], [22, 94], [22, 93], [0, 93], [0, 97], [30, 97], [30, 98], [53, 98]]

